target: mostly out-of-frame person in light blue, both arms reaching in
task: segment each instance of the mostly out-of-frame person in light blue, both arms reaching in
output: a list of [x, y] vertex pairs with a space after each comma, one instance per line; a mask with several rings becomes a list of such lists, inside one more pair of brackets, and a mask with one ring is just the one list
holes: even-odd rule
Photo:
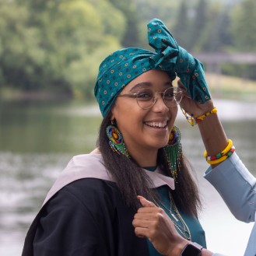
[[[183, 88], [181, 81], [179, 86]], [[212, 100], [198, 104], [191, 100], [188, 92], [184, 92], [181, 109], [188, 121], [198, 124], [205, 145], [205, 159], [210, 164], [205, 171], [205, 178], [216, 188], [233, 215], [246, 223], [256, 218], [256, 178], [247, 170], [230, 139], [227, 139], [223, 126], [219, 121]], [[198, 107], [209, 107], [212, 111], [196, 117]], [[190, 111], [190, 113], [188, 113]], [[202, 118], [203, 117], [203, 118]], [[138, 196], [142, 207], [135, 214], [133, 226], [138, 237], [147, 237], [163, 255], [170, 256], [223, 256], [212, 253], [204, 247], [185, 240], [174, 228], [166, 212], [153, 202]], [[244, 256], [256, 255], [256, 225], [251, 231]], [[236, 247], [236, 245], [230, 244]]]

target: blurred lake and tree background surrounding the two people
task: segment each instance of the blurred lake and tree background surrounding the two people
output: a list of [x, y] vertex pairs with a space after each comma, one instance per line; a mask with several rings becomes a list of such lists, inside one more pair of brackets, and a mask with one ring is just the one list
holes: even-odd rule
[[[21, 254], [54, 180], [72, 156], [94, 149], [98, 66], [121, 47], [150, 50], [146, 24], [153, 18], [204, 63], [226, 133], [256, 175], [254, 0], [0, 0], [1, 255]], [[202, 192], [209, 249], [243, 255], [252, 224], [234, 219], [203, 180], [208, 165], [198, 128], [181, 111], [177, 125]]]

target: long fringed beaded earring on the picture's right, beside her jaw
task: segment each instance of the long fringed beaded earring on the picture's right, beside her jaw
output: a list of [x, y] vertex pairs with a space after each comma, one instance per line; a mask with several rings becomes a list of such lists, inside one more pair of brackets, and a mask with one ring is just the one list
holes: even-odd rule
[[177, 182], [177, 173], [181, 170], [182, 146], [181, 131], [174, 126], [169, 135], [167, 146], [163, 147], [163, 151], [167, 158], [168, 169], [174, 181]]

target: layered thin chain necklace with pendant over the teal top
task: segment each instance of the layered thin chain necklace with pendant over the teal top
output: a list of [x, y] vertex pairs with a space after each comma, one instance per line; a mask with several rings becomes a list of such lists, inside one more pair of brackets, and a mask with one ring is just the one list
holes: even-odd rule
[[[171, 195], [170, 191], [169, 191], [169, 198], [170, 198], [170, 209], [167, 209], [167, 207], [163, 203], [160, 202], [160, 204], [162, 206], [161, 208], [166, 209], [167, 212], [170, 213], [170, 216], [172, 216], [175, 221], [171, 218], [170, 218], [170, 220], [171, 220], [172, 223], [174, 223], [174, 226], [176, 227], [176, 229], [180, 231], [180, 233], [182, 234], [182, 236], [185, 239], [191, 241], [191, 232], [188, 228], [188, 225], [184, 222], [184, 219], [181, 217], [181, 214], [178, 211], [177, 206], [174, 203], [174, 198]], [[156, 205], [158, 205], [158, 204], [156, 203]], [[158, 206], [160, 207], [160, 205], [158, 205]], [[175, 212], [176, 216], [174, 215], [174, 212], [172, 211], [172, 209], [174, 209], [174, 212]], [[182, 226], [179, 225], [178, 223], [181, 223]]]

